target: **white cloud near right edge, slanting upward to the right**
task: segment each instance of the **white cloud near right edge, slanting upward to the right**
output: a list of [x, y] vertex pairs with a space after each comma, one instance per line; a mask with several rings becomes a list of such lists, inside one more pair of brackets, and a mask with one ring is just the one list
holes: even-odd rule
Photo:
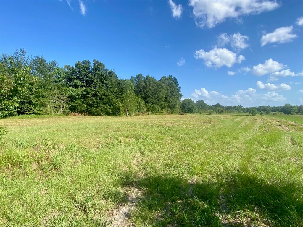
[[267, 33], [261, 38], [261, 46], [268, 43], [288, 43], [291, 42], [294, 38], [298, 36], [296, 34], [292, 34], [292, 26], [277, 28], [272, 33]]

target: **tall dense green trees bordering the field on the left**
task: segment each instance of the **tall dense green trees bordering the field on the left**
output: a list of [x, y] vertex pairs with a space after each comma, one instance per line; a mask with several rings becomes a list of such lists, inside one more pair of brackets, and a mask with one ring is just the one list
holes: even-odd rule
[[0, 58], [0, 117], [18, 114], [119, 116], [180, 113], [181, 87], [171, 75], [159, 81], [138, 74], [119, 79], [98, 61], [59, 67], [25, 50]]

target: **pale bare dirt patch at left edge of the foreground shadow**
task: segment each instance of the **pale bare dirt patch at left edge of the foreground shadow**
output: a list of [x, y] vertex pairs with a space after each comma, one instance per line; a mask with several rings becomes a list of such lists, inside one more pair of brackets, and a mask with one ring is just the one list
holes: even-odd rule
[[118, 205], [109, 218], [110, 224], [108, 227], [130, 227], [134, 226], [131, 222], [130, 213], [136, 206], [136, 204], [140, 201], [142, 197], [142, 191], [135, 187], [127, 187], [125, 188], [127, 192], [127, 202]]

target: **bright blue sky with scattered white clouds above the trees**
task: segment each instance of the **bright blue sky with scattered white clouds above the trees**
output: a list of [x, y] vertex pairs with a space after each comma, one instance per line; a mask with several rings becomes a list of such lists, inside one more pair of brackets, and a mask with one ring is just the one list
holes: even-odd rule
[[0, 50], [171, 74], [208, 104], [302, 104], [302, 17], [303, 1], [1, 1]]

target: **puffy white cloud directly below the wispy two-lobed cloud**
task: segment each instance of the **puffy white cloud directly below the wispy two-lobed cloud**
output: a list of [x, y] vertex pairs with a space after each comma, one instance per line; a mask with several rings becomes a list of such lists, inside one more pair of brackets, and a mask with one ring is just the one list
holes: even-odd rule
[[207, 67], [221, 67], [226, 65], [227, 67], [231, 67], [235, 63], [241, 63], [241, 61], [245, 60], [243, 55], [237, 56], [236, 53], [226, 49], [226, 48], [217, 48], [215, 46], [214, 49], [209, 52], [205, 52], [203, 49], [197, 50], [194, 54], [196, 59], [203, 59], [204, 64]]

